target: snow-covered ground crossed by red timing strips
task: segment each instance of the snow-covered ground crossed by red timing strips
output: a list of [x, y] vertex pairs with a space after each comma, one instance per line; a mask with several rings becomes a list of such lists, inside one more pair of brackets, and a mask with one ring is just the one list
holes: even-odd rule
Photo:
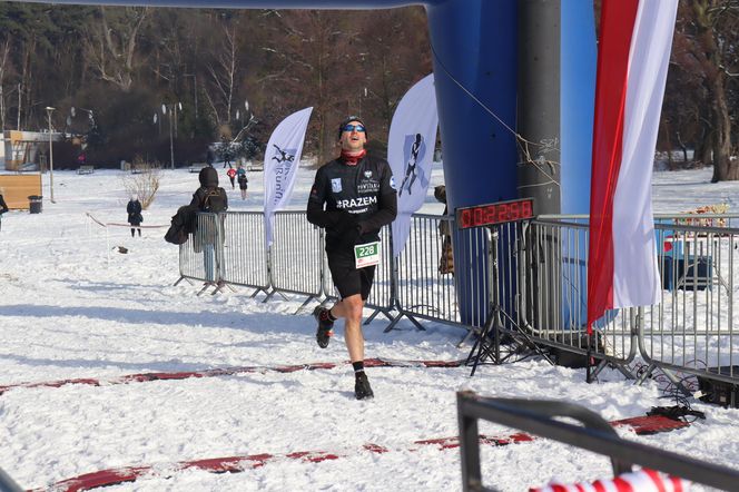
[[[227, 183], [225, 174], [221, 184]], [[0, 386], [76, 377], [112, 380], [147, 372], [346, 361], [342, 329], [327, 350], [315, 343], [307, 314], [293, 313], [304, 301], [275, 297], [263, 304], [252, 291], [197, 297], [199, 285], [178, 278], [177, 247], [164, 242], [166, 229], [145, 229], [131, 238], [125, 223], [128, 196], [122, 173], [97, 170], [79, 176], [55, 174], [57, 204], [42, 214], [13, 211], [0, 232]], [[656, 211], [681, 211], [728, 203], [739, 184], [710, 185], [710, 169], [654, 175]], [[304, 207], [313, 171], [302, 169], [293, 197]], [[48, 196], [48, 176], [45, 176]], [[435, 167], [432, 186], [443, 181]], [[144, 225], [168, 225], [176, 208], [189, 201], [197, 175], [164, 173]], [[229, 193], [231, 210], [259, 210], [260, 174], [249, 174], [249, 196]], [[431, 196], [423, 211], [441, 213]], [[408, 322], [382, 332], [377, 319], [365, 327], [367, 357], [454, 361], [464, 334], [427, 323], [425, 333]], [[739, 350], [737, 347], [733, 348]], [[110, 491], [392, 491], [461, 489], [460, 452], [414, 446], [418, 440], [457, 434], [455, 392], [546, 397], [575, 402], [608, 420], [643, 415], [669, 405], [654, 383], [635, 386], [618, 373], [599, 384], [584, 372], [526, 361], [469, 370], [377, 367], [368, 370], [376, 397], [353, 397], [351, 365], [292, 373], [253, 372], [223, 377], [130, 384], [14, 388], [0, 395], [0, 468], [23, 488], [46, 488], [63, 479], [118, 466], [154, 465], [136, 482]], [[686, 430], [629, 439], [693, 457], [739, 468], [739, 411], [696, 403], [707, 420]], [[485, 434], [511, 431], [483, 423]], [[620, 431], [625, 433], [627, 431]], [[387, 450], [368, 452], [373, 443]], [[311, 462], [285, 457], [300, 451], [339, 455]], [[263, 466], [242, 473], [178, 471], [188, 460], [270, 453]], [[279, 457], [283, 456], [283, 457]], [[550, 479], [610, 476], [602, 456], [539, 441], [483, 447], [485, 484], [526, 490]], [[696, 486], [693, 490], [703, 490]]]

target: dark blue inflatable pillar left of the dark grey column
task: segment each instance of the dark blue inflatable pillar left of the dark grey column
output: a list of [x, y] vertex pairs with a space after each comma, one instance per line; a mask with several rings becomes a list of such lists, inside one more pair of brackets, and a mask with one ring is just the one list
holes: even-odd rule
[[[450, 210], [514, 199], [516, 2], [452, 0], [426, 10]], [[474, 325], [487, 316], [481, 233], [454, 237], [460, 314]]]

